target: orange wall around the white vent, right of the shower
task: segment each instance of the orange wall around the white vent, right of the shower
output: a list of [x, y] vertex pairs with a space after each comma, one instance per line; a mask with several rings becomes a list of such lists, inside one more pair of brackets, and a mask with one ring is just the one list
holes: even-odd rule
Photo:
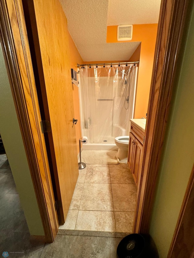
[[107, 43], [141, 41], [141, 51], [139, 46], [132, 56], [134, 60], [129, 59], [137, 61], [135, 58], [140, 51], [135, 118], [146, 117], [147, 113], [157, 29], [158, 24], [135, 24], [131, 41], [117, 41], [117, 26], [107, 27]]

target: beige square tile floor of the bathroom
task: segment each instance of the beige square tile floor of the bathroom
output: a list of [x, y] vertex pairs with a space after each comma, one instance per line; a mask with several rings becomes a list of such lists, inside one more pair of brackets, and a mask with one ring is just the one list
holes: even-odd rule
[[79, 170], [65, 224], [59, 229], [132, 232], [137, 187], [126, 163]]

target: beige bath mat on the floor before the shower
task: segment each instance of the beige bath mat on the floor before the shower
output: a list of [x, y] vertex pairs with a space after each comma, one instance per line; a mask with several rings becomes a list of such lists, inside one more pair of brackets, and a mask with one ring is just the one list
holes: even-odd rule
[[86, 164], [116, 165], [119, 164], [117, 151], [112, 150], [82, 150], [82, 162]]

